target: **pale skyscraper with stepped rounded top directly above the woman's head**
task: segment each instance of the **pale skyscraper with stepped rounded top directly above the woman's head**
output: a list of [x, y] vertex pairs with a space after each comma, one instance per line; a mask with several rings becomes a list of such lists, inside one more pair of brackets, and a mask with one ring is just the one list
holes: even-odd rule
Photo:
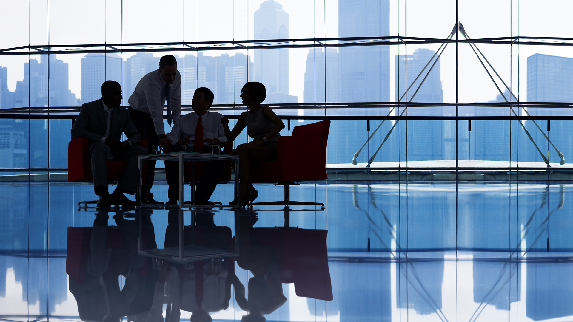
[[[261, 3], [254, 13], [254, 39], [287, 39], [289, 17], [278, 1]], [[288, 49], [261, 49], [254, 54], [254, 80], [265, 85], [266, 103], [297, 103], [289, 95]]]

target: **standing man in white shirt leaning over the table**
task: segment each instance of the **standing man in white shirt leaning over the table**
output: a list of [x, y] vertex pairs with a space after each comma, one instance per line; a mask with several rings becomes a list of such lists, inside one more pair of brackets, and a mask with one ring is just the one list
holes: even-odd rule
[[[151, 148], [166, 138], [163, 128], [163, 104], [167, 103], [167, 123], [176, 122], [181, 115], [181, 74], [177, 70], [177, 60], [173, 55], [165, 55], [159, 60], [159, 69], [139, 81], [134, 93], [129, 97], [129, 115], [142, 140]], [[151, 187], [155, 174], [155, 161], [147, 161], [147, 182], [142, 187], [142, 203], [159, 203], [153, 199]]]

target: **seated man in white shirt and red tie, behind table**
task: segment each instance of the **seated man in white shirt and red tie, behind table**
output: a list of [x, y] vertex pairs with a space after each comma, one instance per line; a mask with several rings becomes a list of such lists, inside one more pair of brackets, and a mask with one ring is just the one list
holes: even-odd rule
[[[225, 131], [221, 124], [221, 113], [209, 112], [214, 99], [209, 88], [195, 89], [193, 95], [193, 113], [179, 117], [167, 137], [160, 141], [164, 149], [170, 152], [183, 151], [183, 146], [193, 144], [193, 152], [210, 152], [210, 146], [226, 142]], [[166, 205], [176, 205], [179, 199], [179, 162], [165, 162], [169, 181]], [[195, 205], [214, 205], [209, 201], [217, 187], [219, 176], [225, 168], [225, 161], [207, 162], [201, 182], [195, 190]]]

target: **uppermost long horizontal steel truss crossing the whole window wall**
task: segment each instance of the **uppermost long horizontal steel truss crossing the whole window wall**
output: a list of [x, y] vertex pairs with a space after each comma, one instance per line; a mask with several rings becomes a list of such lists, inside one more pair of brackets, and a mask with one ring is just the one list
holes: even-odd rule
[[136, 53], [136, 52], [203, 52], [207, 50], [247, 50], [280, 48], [322, 48], [348, 46], [388, 46], [444, 44], [446, 42], [496, 45], [549, 45], [573, 46], [573, 38], [567, 37], [493, 37], [466, 40], [422, 37], [339, 37], [299, 38], [269, 40], [229, 40], [195, 42], [137, 42], [127, 44], [76, 44], [76, 45], [27, 45], [0, 49], [0, 55], [28, 54], [88, 54], [88, 53]]

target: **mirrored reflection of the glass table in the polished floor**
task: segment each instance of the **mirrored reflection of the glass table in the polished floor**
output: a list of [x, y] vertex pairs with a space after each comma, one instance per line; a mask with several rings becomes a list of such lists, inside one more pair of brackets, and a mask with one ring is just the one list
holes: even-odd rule
[[[222, 222], [222, 225], [215, 225], [215, 216], [218, 217], [217, 222]], [[139, 222], [140, 256], [183, 264], [239, 255], [238, 221], [236, 215], [228, 211], [211, 212], [177, 208], [169, 210], [163, 245], [160, 245], [161, 243], [155, 245], [148, 239], [155, 239], [155, 233], [163, 235], [162, 232], [151, 233], [145, 225], [142, 225], [142, 220]]]

